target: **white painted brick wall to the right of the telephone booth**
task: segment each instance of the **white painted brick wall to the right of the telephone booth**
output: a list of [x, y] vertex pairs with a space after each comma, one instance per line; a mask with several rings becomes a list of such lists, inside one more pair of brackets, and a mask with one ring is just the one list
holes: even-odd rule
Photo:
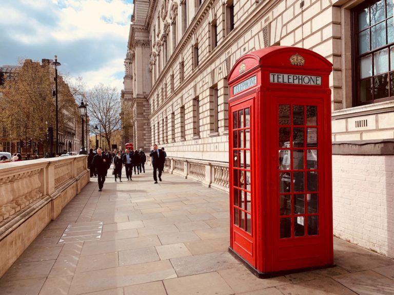
[[332, 156], [334, 235], [394, 257], [394, 156]]

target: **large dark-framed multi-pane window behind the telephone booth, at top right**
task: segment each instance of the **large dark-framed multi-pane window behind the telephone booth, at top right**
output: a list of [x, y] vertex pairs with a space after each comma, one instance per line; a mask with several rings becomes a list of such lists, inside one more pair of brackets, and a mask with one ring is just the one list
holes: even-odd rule
[[392, 0], [368, 1], [352, 10], [355, 106], [394, 99]]

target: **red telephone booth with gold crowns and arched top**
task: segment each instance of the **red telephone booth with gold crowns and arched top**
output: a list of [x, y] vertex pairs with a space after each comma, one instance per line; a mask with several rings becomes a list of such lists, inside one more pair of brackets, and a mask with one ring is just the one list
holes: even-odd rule
[[228, 76], [230, 252], [259, 277], [333, 265], [331, 71], [277, 46]]

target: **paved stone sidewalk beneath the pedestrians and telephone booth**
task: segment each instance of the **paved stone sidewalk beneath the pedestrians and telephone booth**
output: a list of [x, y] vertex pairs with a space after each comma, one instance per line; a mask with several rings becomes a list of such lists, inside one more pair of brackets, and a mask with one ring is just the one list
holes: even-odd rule
[[337, 267], [258, 279], [227, 251], [226, 193], [168, 173], [153, 184], [150, 166], [133, 181], [110, 174], [43, 230], [1, 295], [394, 294], [394, 260], [336, 238]]

